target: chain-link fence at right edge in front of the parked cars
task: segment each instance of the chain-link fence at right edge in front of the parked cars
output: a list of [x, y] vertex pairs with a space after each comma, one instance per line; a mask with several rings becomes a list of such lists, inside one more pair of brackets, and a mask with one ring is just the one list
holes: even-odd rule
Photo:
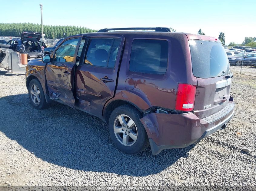
[[224, 46], [224, 48], [233, 73], [256, 76], [256, 47]]

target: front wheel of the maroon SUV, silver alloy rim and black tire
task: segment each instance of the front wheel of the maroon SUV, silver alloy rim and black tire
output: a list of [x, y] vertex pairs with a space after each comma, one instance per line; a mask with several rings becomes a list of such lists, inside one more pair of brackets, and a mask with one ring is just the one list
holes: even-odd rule
[[28, 85], [28, 97], [32, 106], [38, 110], [47, 106], [42, 85], [37, 79], [30, 81]]

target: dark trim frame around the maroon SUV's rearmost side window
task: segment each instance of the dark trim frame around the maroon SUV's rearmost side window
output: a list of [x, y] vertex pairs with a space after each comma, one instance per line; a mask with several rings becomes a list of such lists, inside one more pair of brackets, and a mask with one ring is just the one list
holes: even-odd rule
[[[167, 56], [167, 67], [166, 67], [166, 71], [164, 74], [151, 74], [151, 73], [145, 73], [145, 72], [134, 72], [134, 71], [131, 71], [130, 70], [130, 59], [131, 59], [131, 48], [132, 48], [132, 44], [133, 44], [133, 41], [134, 40], [165, 40], [168, 42], [168, 56]], [[133, 38], [132, 41], [131, 41], [131, 46], [129, 48], [129, 53], [128, 53], [128, 56], [127, 56], [127, 65], [126, 65], [126, 70], [129, 71], [130, 73], [137, 73], [138, 75], [141, 75], [141, 74], [144, 74], [144, 75], [153, 75], [153, 76], [163, 76], [167, 73], [168, 71], [168, 68], [170, 67], [170, 63], [169, 63], [169, 54], [171, 53], [171, 40], [169, 39], [166, 39], [166, 38]]]

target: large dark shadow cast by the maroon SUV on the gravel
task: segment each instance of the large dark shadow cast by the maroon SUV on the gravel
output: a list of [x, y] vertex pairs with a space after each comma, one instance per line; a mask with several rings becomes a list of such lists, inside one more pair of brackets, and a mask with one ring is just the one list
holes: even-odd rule
[[[112, 145], [108, 126], [95, 116], [59, 103], [36, 110], [28, 94], [1, 97], [0, 105], [0, 130], [8, 138], [43, 161], [74, 170], [147, 176], [188, 157], [193, 148], [169, 149], [156, 156], [148, 148], [129, 155]], [[25, 157], [26, 153], [18, 154]]]

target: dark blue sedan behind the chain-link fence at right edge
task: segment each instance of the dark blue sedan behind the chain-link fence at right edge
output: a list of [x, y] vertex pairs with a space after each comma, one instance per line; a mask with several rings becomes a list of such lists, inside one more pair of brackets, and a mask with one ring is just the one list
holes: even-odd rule
[[241, 66], [243, 65], [255, 65], [256, 53], [239, 53], [234, 56], [228, 57], [230, 65]]

